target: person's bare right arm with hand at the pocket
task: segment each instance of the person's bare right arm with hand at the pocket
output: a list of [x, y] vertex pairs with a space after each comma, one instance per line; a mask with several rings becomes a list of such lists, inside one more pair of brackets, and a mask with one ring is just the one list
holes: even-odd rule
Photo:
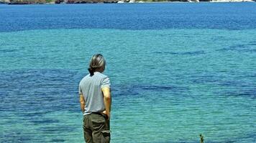
[[110, 93], [110, 88], [109, 87], [103, 87], [101, 88], [101, 91], [104, 96], [104, 105], [105, 105], [105, 111], [103, 112], [108, 116], [110, 119], [110, 112], [111, 112], [111, 93]]

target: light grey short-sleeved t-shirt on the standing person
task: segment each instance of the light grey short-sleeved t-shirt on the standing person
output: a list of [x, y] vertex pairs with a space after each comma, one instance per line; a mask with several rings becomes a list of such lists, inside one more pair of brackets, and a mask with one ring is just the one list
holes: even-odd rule
[[86, 102], [84, 115], [105, 110], [104, 96], [101, 92], [103, 87], [110, 88], [109, 77], [106, 75], [96, 71], [92, 77], [90, 74], [83, 77], [79, 84], [79, 94], [83, 94]]

